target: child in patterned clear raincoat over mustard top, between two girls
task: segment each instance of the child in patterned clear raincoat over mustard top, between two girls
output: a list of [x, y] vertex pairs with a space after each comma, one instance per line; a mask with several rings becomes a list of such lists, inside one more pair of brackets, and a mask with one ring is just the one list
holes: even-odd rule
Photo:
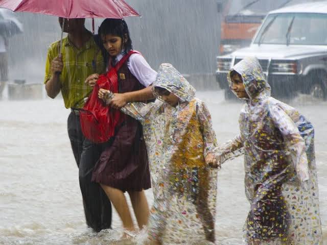
[[[215, 242], [217, 169], [209, 164], [216, 164], [217, 142], [211, 115], [171, 64], [160, 65], [152, 90], [155, 102], [121, 109], [143, 125], [154, 194], [148, 242]], [[99, 97], [109, 102], [112, 93], [100, 90]]]

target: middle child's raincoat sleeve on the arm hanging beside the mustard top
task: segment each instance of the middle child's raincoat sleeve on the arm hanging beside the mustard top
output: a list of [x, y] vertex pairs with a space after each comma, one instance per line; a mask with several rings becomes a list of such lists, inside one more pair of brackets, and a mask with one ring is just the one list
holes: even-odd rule
[[197, 108], [197, 116], [200, 121], [200, 130], [204, 142], [204, 157], [209, 153], [214, 153], [217, 147], [216, 133], [213, 129], [211, 114], [203, 102], [200, 102]]

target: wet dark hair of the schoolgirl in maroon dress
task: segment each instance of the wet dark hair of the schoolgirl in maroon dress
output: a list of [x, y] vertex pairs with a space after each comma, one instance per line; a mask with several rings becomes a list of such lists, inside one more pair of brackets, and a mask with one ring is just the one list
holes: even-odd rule
[[[99, 34], [99, 38], [102, 38], [102, 35], [108, 35], [108, 34], [121, 37], [123, 42], [122, 50], [125, 54], [127, 54], [133, 48], [127, 23], [123, 19], [111, 19], [111, 18], [105, 19], [101, 23], [101, 26], [99, 27], [98, 34]], [[125, 41], [125, 39], [127, 40]], [[105, 51], [104, 47], [102, 48], [102, 50], [105, 52], [105, 54], [103, 54], [104, 57], [105, 56], [107, 57], [108, 54]]]

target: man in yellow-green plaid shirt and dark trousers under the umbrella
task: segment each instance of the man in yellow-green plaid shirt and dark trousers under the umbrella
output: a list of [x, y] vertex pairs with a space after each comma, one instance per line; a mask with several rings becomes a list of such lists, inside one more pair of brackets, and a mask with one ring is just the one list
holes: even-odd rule
[[[68, 35], [62, 39], [61, 54], [60, 41], [50, 46], [44, 79], [48, 96], [54, 99], [61, 91], [65, 107], [71, 108], [67, 128], [78, 166], [84, 142], [79, 110], [84, 105], [84, 98], [92, 90], [84, 81], [91, 74], [101, 74], [105, 71], [102, 53], [92, 33], [85, 28], [84, 22], [84, 18], [59, 17], [60, 26]], [[96, 152], [88, 153], [88, 158], [94, 158], [89, 159], [91, 161], [97, 161], [98, 157]], [[99, 232], [111, 226], [111, 204], [100, 185], [92, 183], [90, 177], [80, 180], [85, 218], [87, 225]]]

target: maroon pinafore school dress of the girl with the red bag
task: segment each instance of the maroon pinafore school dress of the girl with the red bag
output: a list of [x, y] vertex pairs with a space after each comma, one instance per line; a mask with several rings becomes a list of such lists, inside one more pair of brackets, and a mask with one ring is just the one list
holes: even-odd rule
[[[118, 71], [119, 92], [145, 88], [131, 74], [127, 62]], [[122, 114], [124, 121], [116, 126], [114, 136], [97, 162], [92, 181], [120, 189], [141, 191], [151, 188], [148, 154], [142, 125], [134, 118]]]

